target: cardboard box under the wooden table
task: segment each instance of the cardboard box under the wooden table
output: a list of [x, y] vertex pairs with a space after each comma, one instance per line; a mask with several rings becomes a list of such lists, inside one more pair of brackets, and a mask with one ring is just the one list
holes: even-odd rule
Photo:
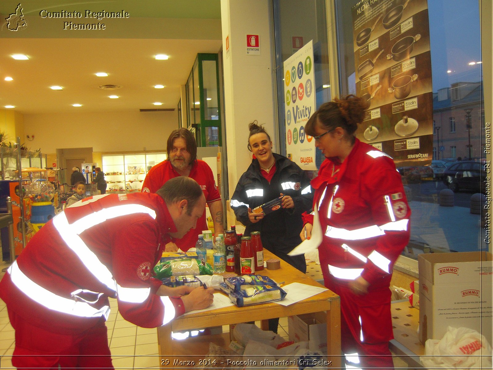
[[324, 312], [287, 318], [289, 340], [308, 341], [310, 351], [327, 354], [327, 317]]

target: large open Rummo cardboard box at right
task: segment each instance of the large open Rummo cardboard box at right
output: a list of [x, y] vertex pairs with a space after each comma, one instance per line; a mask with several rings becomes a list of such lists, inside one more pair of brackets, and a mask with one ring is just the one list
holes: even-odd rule
[[492, 343], [492, 257], [487, 252], [418, 256], [423, 344], [442, 339], [449, 326], [476, 330]]

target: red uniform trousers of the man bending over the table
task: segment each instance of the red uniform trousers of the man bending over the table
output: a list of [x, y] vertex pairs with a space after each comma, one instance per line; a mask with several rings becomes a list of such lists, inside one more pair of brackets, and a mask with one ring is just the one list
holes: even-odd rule
[[11, 310], [8, 316], [15, 329], [12, 365], [17, 369], [114, 369], [104, 321], [83, 333], [58, 334], [29, 324]]

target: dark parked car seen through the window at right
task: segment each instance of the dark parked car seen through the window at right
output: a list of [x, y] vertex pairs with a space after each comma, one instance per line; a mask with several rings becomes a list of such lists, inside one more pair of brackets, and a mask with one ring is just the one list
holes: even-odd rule
[[449, 189], [461, 189], [486, 193], [486, 172], [482, 161], [462, 160], [453, 163], [443, 173], [443, 182]]

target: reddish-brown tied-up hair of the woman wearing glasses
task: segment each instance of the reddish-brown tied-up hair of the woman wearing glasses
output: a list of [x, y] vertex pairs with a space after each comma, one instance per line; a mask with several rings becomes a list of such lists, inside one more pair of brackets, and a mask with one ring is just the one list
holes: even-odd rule
[[[355, 95], [348, 95], [344, 99], [334, 98], [331, 102], [323, 103], [312, 114], [305, 126], [305, 132], [310, 136], [315, 136], [315, 126], [318, 121], [327, 131], [342, 127], [352, 136], [358, 128], [358, 124], [363, 121], [365, 109], [364, 100]], [[354, 136], [352, 140], [354, 140]]]

